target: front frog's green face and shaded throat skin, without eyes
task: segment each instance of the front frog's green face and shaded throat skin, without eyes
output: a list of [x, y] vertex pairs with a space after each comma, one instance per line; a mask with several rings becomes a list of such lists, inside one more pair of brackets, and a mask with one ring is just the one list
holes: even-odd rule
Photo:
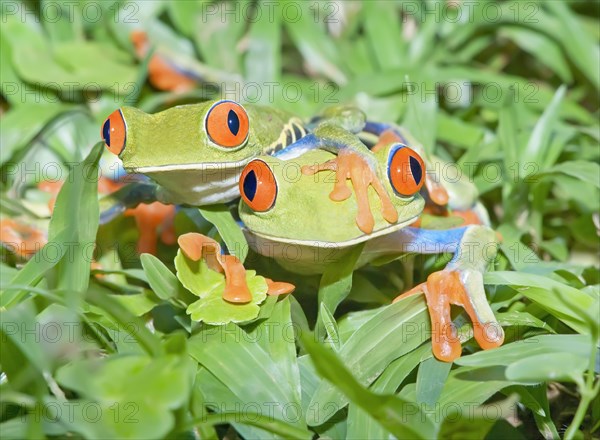
[[400, 197], [392, 189], [387, 179], [391, 147], [374, 153], [373, 159], [379, 175], [385, 176], [382, 183], [398, 212], [398, 221], [390, 224], [383, 218], [381, 202], [375, 190], [369, 188], [369, 202], [375, 220], [371, 234], [365, 234], [356, 224], [354, 195], [341, 202], [330, 199], [334, 172], [301, 173], [303, 165], [323, 163], [334, 157], [332, 153], [313, 150], [287, 161], [272, 156], [259, 157], [273, 171], [278, 192], [274, 205], [265, 212], [255, 212], [243, 200], [240, 202], [239, 214], [246, 226], [244, 233], [250, 247], [275, 259], [284, 268], [303, 274], [323, 272], [325, 267], [344, 259], [354, 246], [362, 242], [368, 243], [357, 267], [390, 254], [390, 245], [391, 253], [398, 254], [399, 247], [387, 237], [415, 221], [423, 211], [425, 201], [420, 194]]

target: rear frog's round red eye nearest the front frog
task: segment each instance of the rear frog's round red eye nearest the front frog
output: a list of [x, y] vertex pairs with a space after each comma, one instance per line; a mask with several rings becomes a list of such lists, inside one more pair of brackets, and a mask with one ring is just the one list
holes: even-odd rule
[[235, 148], [248, 139], [248, 114], [233, 101], [219, 101], [206, 115], [206, 133], [220, 147]]

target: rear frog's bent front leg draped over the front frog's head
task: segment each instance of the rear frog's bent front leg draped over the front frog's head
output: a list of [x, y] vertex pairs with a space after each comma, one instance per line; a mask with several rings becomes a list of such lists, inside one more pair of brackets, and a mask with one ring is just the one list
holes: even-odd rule
[[373, 232], [375, 224], [369, 205], [368, 190], [370, 186], [373, 187], [381, 201], [383, 218], [389, 223], [398, 221], [398, 213], [381, 183], [374, 156], [358, 136], [337, 123], [328, 120], [319, 124], [311, 134], [282, 150], [276, 156], [287, 160], [315, 148], [330, 151], [336, 154], [336, 157], [323, 164], [304, 165], [302, 173], [310, 175], [324, 170], [334, 171], [336, 182], [330, 193], [330, 198], [334, 201], [343, 201], [352, 195], [346, 185], [346, 180], [350, 179], [358, 207], [356, 223], [361, 231], [370, 234]]

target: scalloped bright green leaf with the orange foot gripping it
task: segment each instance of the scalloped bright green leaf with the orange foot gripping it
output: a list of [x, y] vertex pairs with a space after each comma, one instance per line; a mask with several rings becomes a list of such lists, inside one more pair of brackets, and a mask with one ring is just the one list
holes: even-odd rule
[[189, 305], [194, 321], [207, 324], [244, 323], [255, 319], [267, 295], [291, 293], [294, 286], [274, 282], [246, 270], [233, 255], [223, 255], [212, 238], [198, 233], [178, 238], [175, 258], [179, 281], [200, 299]]

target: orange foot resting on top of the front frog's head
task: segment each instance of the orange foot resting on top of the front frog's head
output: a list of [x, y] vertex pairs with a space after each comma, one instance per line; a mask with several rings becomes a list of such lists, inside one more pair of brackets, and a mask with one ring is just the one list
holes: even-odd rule
[[336, 173], [336, 182], [333, 191], [329, 194], [331, 200], [341, 202], [352, 195], [352, 191], [346, 185], [346, 180], [350, 179], [352, 187], [356, 193], [356, 204], [358, 213], [356, 215], [356, 224], [365, 234], [373, 232], [375, 220], [369, 205], [369, 186], [376, 191], [381, 200], [381, 212], [383, 218], [389, 223], [398, 221], [398, 212], [394, 208], [390, 196], [379, 180], [376, 171], [360, 154], [350, 150], [340, 150], [338, 155], [320, 165], [304, 165], [302, 173], [311, 175], [320, 171], [331, 170]]

